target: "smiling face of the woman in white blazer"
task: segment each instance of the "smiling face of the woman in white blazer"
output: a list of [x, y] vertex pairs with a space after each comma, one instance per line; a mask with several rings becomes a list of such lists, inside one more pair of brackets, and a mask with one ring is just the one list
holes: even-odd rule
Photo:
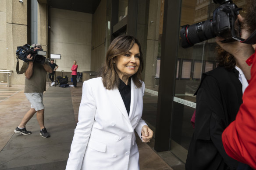
[[127, 53], [114, 58], [115, 68], [119, 78], [129, 78], [137, 73], [139, 69], [139, 46], [135, 43]]

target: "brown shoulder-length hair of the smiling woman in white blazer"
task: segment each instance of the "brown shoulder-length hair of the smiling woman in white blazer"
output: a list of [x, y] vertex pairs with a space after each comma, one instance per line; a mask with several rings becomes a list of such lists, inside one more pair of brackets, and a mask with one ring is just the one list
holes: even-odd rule
[[120, 35], [111, 42], [107, 50], [105, 63], [99, 71], [99, 76], [102, 77], [102, 82], [106, 89], [111, 90], [114, 88], [118, 88], [119, 86], [119, 77], [115, 70], [114, 58], [127, 53], [130, 49], [132, 49], [132, 46], [135, 43], [139, 46], [140, 63], [137, 73], [135, 73], [131, 77], [137, 87], [142, 86], [141, 73], [143, 70], [143, 56], [141, 51], [141, 45], [139, 41], [131, 35]]

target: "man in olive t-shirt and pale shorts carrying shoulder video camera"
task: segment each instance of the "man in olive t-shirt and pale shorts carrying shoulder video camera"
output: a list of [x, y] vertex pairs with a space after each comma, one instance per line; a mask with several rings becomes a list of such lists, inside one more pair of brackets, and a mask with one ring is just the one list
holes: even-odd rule
[[[39, 44], [33, 44], [35, 50], [43, 50]], [[27, 58], [33, 60], [35, 55], [29, 54]], [[15, 133], [22, 135], [29, 135], [32, 132], [27, 131], [25, 125], [36, 113], [36, 118], [40, 126], [40, 135], [43, 138], [50, 137], [44, 126], [44, 105], [43, 105], [43, 92], [46, 91], [46, 71], [52, 73], [53, 69], [50, 67], [49, 62], [45, 60], [43, 64], [38, 62], [24, 62], [21, 68], [21, 73], [25, 73], [25, 90], [24, 93], [31, 104], [30, 110], [22, 118], [20, 125], [14, 129]]]

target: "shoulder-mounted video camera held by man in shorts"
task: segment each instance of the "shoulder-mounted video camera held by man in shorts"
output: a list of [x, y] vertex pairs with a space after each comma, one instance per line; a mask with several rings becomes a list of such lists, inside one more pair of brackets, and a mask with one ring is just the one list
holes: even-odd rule
[[[21, 59], [25, 62], [33, 61], [38, 62], [40, 64], [43, 64], [46, 60], [46, 51], [43, 51], [43, 49], [35, 49], [36, 47], [32, 47], [28, 44], [25, 44], [23, 46], [18, 46], [16, 51], [16, 56], [18, 59]], [[33, 57], [32, 59], [28, 59], [27, 56], [31, 54]]]

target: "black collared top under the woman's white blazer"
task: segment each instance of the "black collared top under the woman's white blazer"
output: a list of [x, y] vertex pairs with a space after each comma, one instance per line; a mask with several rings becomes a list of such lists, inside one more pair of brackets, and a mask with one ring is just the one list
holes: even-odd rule
[[126, 85], [121, 79], [119, 79], [120, 83], [119, 83], [119, 87], [118, 90], [121, 94], [121, 97], [124, 101], [124, 105], [126, 108], [126, 111], [129, 115], [130, 112], [130, 106], [131, 106], [131, 77], [128, 80], [128, 85]]

